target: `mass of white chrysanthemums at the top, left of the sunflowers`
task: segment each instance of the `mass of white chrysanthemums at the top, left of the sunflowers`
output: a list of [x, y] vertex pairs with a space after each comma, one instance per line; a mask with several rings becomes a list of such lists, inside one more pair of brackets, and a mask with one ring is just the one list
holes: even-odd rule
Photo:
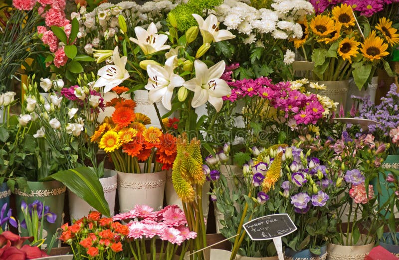
[[[307, 14], [314, 12], [314, 8], [306, 0], [273, 0], [273, 9], [256, 9], [243, 1], [224, 0], [215, 8], [215, 15], [228, 30], [237, 30], [245, 34], [245, 44], [256, 42], [271, 34], [274, 39], [301, 38], [302, 27], [297, 21]], [[263, 42], [256, 42], [262, 46]]]

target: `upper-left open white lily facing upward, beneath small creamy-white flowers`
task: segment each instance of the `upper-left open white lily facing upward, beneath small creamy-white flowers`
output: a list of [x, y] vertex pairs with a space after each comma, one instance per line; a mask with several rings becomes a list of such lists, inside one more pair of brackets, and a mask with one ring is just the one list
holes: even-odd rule
[[171, 48], [170, 45], [164, 45], [168, 40], [168, 36], [158, 34], [158, 29], [154, 22], [148, 26], [147, 30], [137, 26], [134, 28], [134, 31], [136, 32], [137, 39], [130, 37], [129, 40], [139, 45], [144, 55]]

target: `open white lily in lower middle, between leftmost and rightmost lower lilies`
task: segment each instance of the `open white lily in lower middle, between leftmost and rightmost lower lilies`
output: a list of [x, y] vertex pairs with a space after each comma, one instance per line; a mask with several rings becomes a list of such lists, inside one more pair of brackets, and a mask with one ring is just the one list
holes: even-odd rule
[[184, 79], [173, 72], [173, 64], [177, 56], [172, 56], [165, 62], [165, 67], [150, 64], [147, 66], [149, 76], [146, 89], [150, 91], [150, 103], [162, 100], [162, 105], [168, 110], [172, 109], [173, 89], [183, 86]]

